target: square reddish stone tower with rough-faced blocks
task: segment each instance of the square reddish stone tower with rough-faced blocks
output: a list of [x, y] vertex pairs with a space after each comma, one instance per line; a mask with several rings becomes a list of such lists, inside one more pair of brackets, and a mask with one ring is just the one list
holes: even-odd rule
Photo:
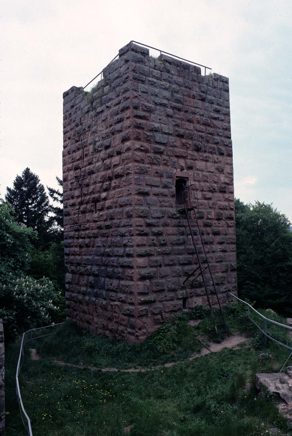
[[103, 77], [64, 92], [67, 317], [138, 342], [207, 303], [201, 277], [183, 283], [198, 264], [183, 185], [220, 300], [236, 293], [228, 78], [133, 43]]

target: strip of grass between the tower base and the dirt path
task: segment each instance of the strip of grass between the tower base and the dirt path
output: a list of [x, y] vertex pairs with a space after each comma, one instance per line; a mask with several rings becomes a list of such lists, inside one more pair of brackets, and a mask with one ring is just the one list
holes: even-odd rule
[[[65, 323], [56, 329], [53, 336], [45, 338], [35, 346], [43, 357], [50, 358], [54, 349], [54, 358], [72, 364], [114, 367], [119, 369], [151, 367], [167, 362], [182, 361], [192, 354], [199, 353], [202, 345], [197, 340], [200, 328], [190, 327], [184, 320], [178, 320], [177, 331], [171, 323], [165, 323], [162, 329], [143, 344], [127, 344], [106, 337], [92, 336], [75, 324]], [[167, 330], [165, 327], [169, 327]], [[162, 334], [160, 334], [162, 330]], [[166, 330], [163, 332], [163, 330]], [[159, 352], [161, 348], [170, 348], [169, 352]], [[167, 347], [168, 346], [168, 347]], [[78, 353], [76, 353], [78, 350]]]

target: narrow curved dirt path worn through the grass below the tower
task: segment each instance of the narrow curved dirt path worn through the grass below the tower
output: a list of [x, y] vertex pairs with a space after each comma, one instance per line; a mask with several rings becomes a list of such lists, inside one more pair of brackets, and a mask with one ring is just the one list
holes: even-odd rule
[[[242, 342], [248, 341], [245, 336], [242, 336], [240, 334], [234, 334], [232, 336], [227, 337], [224, 341], [222, 341], [220, 344], [215, 344], [214, 342], [208, 343], [207, 347], [204, 347], [200, 353], [193, 354], [190, 358], [188, 358], [186, 361], [192, 361], [194, 359], [197, 359], [198, 357], [205, 356], [210, 353], [217, 353], [218, 351], [223, 350], [223, 348], [236, 348], [239, 344], [242, 344]], [[206, 342], [206, 341], [205, 341]], [[36, 350], [34, 350], [36, 351]], [[40, 358], [40, 356], [37, 354], [38, 357], [32, 357], [32, 353], [30, 354], [30, 357], [34, 360], [37, 360]], [[152, 366], [150, 368], [130, 368], [130, 369], [118, 369], [118, 368], [97, 368], [96, 366], [85, 366], [85, 365], [75, 365], [72, 363], [63, 362], [61, 360], [52, 360], [52, 362], [57, 363], [59, 365], [66, 365], [71, 366], [73, 368], [80, 368], [80, 369], [90, 369], [91, 371], [112, 371], [112, 372], [144, 372], [144, 371], [152, 371], [154, 369], [158, 368], [169, 368], [170, 366], [177, 365], [179, 363], [184, 363], [185, 361], [178, 361], [178, 362], [170, 362], [165, 363], [162, 365]]]

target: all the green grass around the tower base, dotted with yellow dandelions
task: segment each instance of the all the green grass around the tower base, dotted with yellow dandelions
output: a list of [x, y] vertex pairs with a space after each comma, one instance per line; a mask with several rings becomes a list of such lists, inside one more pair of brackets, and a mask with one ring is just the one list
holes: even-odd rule
[[[242, 320], [238, 323], [232, 307], [226, 310], [226, 318], [232, 329], [242, 327], [253, 341], [255, 330]], [[238, 349], [145, 372], [81, 370], [50, 361], [61, 358], [118, 368], [163, 364], [192, 353], [196, 345], [191, 348], [190, 342], [198, 342], [197, 335], [205, 331], [212, 336], [209, 317], [197, 328], [188, 327], [175, 348], [165, 354], [151, 341], [142, 345], [114, 343], [83, 334], [68, 324], [54, 336], [37, 339], [34, 346], [46, 358], [26, 358], [20, 377], [34, 436], [123, 436], [127, 428], [131, 436], [259, 436], [275, 426], [291, 434], [273, 398], [258, 396], [253, 382], [255, 372], [279, 369], [284, 363], [289, 350], [279, 345], [269, 344], [267, 353], [272, 358], [261, 363], [261, 344], [259, 348], [242, 344]], [[27, 434], [13, 399], [17, 351], [17, 346], [11, 347], [6, 358], [6, 436]], [[250, 383], [247, 389], [246, 382]]]

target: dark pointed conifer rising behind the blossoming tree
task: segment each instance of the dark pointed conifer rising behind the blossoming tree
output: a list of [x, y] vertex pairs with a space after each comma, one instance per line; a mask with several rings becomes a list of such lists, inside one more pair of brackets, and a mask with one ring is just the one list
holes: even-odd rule
[[5, 199], [12, 205], [16, 221], [37, 231], [35, 245], [46, 247], [53, 219], [49, 217], [49, 198], [39, 177], [26, 168], [21, 176], [17, 174], [13, 188], [7, 187]]

